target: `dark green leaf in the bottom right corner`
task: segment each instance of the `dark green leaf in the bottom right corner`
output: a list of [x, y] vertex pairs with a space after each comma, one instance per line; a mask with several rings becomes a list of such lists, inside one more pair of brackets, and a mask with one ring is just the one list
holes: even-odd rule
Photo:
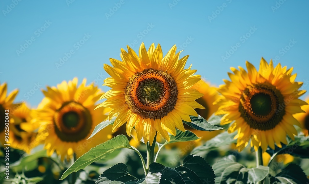
[[289, 164], [276, 178], [282, 183], [309, 183], [309, 179], [303, 169], [296, 164]]

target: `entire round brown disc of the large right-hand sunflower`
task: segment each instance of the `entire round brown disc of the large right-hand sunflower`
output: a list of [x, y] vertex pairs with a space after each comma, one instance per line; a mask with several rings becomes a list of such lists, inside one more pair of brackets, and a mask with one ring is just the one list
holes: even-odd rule
[[285, 115], [284, 98], [269, 83], [248, 86], [240, 97], [239, 112], [251, 128], [270, 130]]

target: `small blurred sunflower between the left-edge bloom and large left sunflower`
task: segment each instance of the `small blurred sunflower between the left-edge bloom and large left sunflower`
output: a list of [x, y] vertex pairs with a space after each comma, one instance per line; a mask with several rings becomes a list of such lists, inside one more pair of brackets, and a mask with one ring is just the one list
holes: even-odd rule
[[22, 103], [11, 114], [9, 143], [12, 148], [30, 153], [31, 149], [37, 145], [31, 144], [36, 137], [34, 132], [36, 126], [30, 123], [32, 120], [31, 110], [25, 103]]

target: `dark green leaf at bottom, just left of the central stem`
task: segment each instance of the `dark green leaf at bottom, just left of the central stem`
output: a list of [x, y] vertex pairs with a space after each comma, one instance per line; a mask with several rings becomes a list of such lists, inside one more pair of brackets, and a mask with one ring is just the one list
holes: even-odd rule
[[129, 174], [127, 166], [123, 163], [113, 165], [112, 167], [104, 171], [103, 174], [101, 174], [101, 177], [106, 177], [109, 180], [118, 182], [138, 180], [138, 178], [135, 178], [134, 176]]

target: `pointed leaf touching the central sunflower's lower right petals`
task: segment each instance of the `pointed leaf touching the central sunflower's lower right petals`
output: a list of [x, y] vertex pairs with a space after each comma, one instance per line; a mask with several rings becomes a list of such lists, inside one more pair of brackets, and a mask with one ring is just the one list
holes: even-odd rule
[[182, 122], [187, 124], [191, 128], [196, 129], [196, 130], [214, 131], [214, 130], [221, 130], [221, 129], [223, 129], [222, 127], [217, 127], [217, 126], [211, 125], [210, 123], [208, 123], [200, 115], [198, 115], [198, 116], [190, 116], [190, 119], [191, 119], [192, 122], [186, 122], [184, 120], [182, 120]]

